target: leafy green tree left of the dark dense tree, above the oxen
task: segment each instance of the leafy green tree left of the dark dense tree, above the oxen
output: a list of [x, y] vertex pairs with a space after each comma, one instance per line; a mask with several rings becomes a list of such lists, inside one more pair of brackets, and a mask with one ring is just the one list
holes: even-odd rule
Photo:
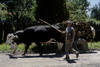
[[29, 23], [36, 21], [35, 0], [0, 0], [0, 2], [6, 5], [8, 13], [5, 14], [5, 18], [6, 21], [14, 23], [14, 31], [25, 29]]

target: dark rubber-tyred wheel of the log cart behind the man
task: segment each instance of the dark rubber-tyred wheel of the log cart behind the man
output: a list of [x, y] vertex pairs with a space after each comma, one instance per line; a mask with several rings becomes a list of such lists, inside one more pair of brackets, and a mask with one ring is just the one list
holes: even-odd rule
[[88, 49], [87, 41], [84, 39], [78, 39], [74, 42], [73, 47], [80, 53], [84, 53]]

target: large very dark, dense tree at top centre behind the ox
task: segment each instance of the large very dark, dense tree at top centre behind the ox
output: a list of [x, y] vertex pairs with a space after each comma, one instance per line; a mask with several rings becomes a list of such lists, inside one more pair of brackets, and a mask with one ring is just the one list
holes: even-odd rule
[[69, 19], [65, 0], [36, 0], [36, 19], [43, 19], [51, 24]]

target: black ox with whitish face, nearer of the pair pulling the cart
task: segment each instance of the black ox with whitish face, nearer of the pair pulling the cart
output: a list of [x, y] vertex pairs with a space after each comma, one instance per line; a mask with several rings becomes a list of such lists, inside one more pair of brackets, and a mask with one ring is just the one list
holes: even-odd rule
[[[60, 24], [53, 26], [59, 30], [62, 29], [62, 26]], [[62, 40], [62, 34], [48, 25], [28, 27], [23, 30], [20, 35], [14, 35], [12, 37], [13, 41], [11, 42], [11, 49], [16, 49], [18, 44], [24, 43], [26, 47], [23, 55], [25, 55], [25, 53], [27, 53], [29, 45], [34, 42], [39, 48], [40, 55], [42, 55], [43, 51], [40, 42], [49, 41], [51, 38], [55, 39], [57, 42], [64, 43], [64, 40]], [[6, 43], [8, 42], [6, 41]]]

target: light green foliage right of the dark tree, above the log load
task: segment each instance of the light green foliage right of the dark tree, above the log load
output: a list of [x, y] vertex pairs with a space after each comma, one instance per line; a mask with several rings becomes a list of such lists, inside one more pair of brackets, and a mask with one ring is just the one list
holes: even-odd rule
[[69, 20], [84, 21], [87, 18], [87, 9], [90, 3], [87, 0], [66, 0], [70, 13]]

